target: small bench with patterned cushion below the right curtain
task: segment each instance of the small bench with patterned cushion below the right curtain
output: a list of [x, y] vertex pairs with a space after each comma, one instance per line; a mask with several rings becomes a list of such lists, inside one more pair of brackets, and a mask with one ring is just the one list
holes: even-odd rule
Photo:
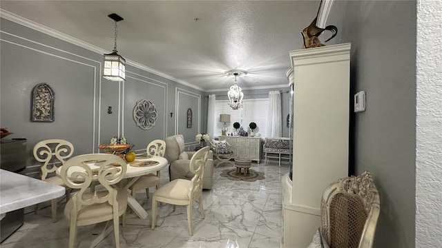
[[290, 159], [290, 147], [291, 138], [265, 138], [264, 147], [262, 149], [265, 153], [265, 163], [267, 164], [267, 158], [278, 158], [279, 166], [281, 166], [281, 159]]

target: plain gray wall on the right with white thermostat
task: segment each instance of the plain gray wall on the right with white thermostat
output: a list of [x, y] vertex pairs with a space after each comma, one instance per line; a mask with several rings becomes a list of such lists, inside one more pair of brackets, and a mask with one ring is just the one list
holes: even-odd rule
[[351, 166], [381, 195], [374, 247], [414, 247], [416, 1], [335, 1], [327, 24], [334, 43], [352, 43], [352, 94], [367, 94], [352, 113]]

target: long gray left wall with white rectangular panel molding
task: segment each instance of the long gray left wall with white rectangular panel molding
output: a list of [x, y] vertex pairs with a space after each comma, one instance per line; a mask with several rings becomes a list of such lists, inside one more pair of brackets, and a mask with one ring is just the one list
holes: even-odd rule
[[[35, 165], [29, 171], [36, 172], [32, 176], [39, 173], [32, 147], [46, 138], [70, 141], [77, 155], [99, 152], [97, 146], [113, 136], [124, 135], [141, 152], [150, 141], [177, 132], [184, 134], [186, 145], [193, 145], [195, 135], [205, 132], [207, 99], [200, 90], [131, 65], [124, 83], [108, 81], [101, 76], [102, 54], [6, 19], [1, 19], [1, 31], [0, 125], [15, 133], [8, 138], [28, 138], [27, 165]], [[48, 83], [55, 92], [52, 123], [30, 121], [31, 92], [38, 83]], [[133, 121], [133, 107], [142, 99], [157, 108], [157, 123], [150, 130]], [[191, 129], [186, 127], [189, 107]]]

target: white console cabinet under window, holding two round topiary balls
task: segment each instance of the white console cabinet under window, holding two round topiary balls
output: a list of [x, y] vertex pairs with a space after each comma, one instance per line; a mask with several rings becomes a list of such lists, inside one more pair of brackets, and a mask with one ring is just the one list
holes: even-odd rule
[[231, 145], [233, 158], [250, 159], [260, 163], [260, 142], [259, 137], [250, 136], [220, 136], [220, 141], [227, 141]]

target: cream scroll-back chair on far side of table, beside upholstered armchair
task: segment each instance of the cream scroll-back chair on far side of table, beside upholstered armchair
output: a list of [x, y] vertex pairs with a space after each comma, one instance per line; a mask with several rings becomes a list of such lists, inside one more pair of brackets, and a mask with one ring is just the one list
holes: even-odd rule
[[[155, 140], [149, 143], [146, 147], [147, 154], [151, 154], [154, 156], [162, 156], [164, 157], [164, 153], [166, 152], [166, 143], [162, 140]], [[140, 189], [146, 189], [146, 196], [149, 198], [149, 187], [160, 188], [160, 171], [157, 171], [156, 174], [147, 174], [145, 176], [141, 176], [132, 186], [132, 196], [135, 198], [135, 193]]]

